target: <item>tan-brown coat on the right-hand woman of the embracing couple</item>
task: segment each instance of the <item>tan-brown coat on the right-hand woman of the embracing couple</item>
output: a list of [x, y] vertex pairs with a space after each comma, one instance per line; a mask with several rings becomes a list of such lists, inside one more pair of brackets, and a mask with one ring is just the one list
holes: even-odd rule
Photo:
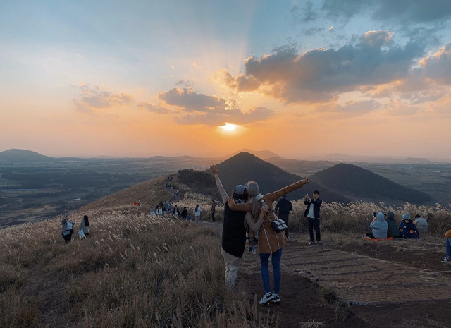
[[[296, 183], [291, 184], [290, 186], [286, 186], [280, 190], [274, 191], [273, 193], [268, 193], [263, 196], [263, 200], [266, 202], [266, 205], [273, 209], [273, 202], [275, 202], [278, 198], [282, 197], [285, 194], [291, 193], [292, 191], [302, 188], [304, 183], [302, 181], [297, 181]], [[259, 200], [259, 205], [261, 207], [261, 200]], [[233, 211], [247, 211], [252, 212], [252, 204], [235, 204], [233, 199], [228, 200], [228, 206]], [[259, 228], [259, 253], [273, 253], [279, 250], [280, 248], [284, 248], [287, 244], [287, 237], [285, 236], [284, 231], [280, 231], [276, 233], [271, 226], [271, 221], [274, 221], [276, 216], [272, 211], [268, 212], [264, 216], [263, 224], [261, 224]]]

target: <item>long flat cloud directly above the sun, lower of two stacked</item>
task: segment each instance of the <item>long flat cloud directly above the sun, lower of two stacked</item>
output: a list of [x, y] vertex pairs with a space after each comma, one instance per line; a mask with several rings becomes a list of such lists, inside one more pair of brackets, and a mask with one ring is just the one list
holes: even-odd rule
[[219, 126], [224, 123], [250, 124], [257, 121], [264, 121], [273, 116], [274, 111], [266, 107], [255, 107], [250, 111], [243, 112], [241, 109], [211, 109], [202, 114], [189, 114], [175, 121], [179, 124], [206, 124]]

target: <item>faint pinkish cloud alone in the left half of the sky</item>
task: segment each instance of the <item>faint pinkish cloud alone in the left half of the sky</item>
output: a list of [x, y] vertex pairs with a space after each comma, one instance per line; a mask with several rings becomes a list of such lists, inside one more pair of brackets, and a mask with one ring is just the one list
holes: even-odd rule
[[101, 87], [89, 87], [85, 83], [80, 83], [80, 95], [73, 101], [76, 109], [80, 111], [92, 111], [109, 107], [131, 106], [135, 97], [126, 93], [113, 94], [108, 90], [102, 90]]

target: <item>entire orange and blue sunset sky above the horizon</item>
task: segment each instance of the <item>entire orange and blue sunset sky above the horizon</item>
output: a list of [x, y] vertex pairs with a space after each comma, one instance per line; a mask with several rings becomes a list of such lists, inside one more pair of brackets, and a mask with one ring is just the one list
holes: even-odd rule
[[450, 159], [450, 22], [449, 0], [1, 1], [0, 151]]

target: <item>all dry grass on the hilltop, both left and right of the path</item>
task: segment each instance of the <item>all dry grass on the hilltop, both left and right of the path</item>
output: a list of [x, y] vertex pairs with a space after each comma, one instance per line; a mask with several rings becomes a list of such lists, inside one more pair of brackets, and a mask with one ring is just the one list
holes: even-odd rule
[[[179, 207], [192, 210], [199, 203], [205, 209], [204, 218], [209, 218], [211, 198], [187, 190], [184, 196], [177, 202]], [[116, 198], [116, 204], [121, 204], [122, 197]], [[293, 304], [290, 314], [280, 308], [261, 308], [256, 303], [261, 296], [258, 272], [251, 276], [242, 270], [240, 291], [224, 286], [221, 225], [151, 218], [149, 204], [129, 204], [92, 205], [74, 212], [71, 215], [77, 224], [83, 214], [89, 215], [92, 236], [80, 240], [74, 235], [66, 244], [61, 218], [1, 229], [0, 327], [316, 327], [321, 322], [329, 322], [330, 327], [377, 327], [361, 319], [340, 319], [333, 310], [319, 306], [319, 297], [311, 301], [318, 303], [309, 305], [316, 312], [305, 310], [308, 304], [302, 300], [295, 303], [299, 314]], [[294, 207], [290, 227], [307, 241], [304, 205], [295, 202]], [[364, 202], [346, 207], [324, 204], [324, 241], [347, 252], [364, 249], [367, 243], [359, 236], [369, 226], [372, 212], [388, 209]], [[430, 236], [415, 245], [393, 246], [392, 252], [416, 247], [419, 252], [433, 249], [435, 256], [444, 253], [442, 234], [451, 222], [447, 209], [406, 204], [391, 210], [398, 220], [404, 212], [433, 213]], [[221, 207], [217, 211], [221, 219]], [[319, 295], [319, 288], [299, 279], [286, 281], [302, 290], [310, 288], [309, 295]], [[299, 317], [304, 312], [309, 317]]]

